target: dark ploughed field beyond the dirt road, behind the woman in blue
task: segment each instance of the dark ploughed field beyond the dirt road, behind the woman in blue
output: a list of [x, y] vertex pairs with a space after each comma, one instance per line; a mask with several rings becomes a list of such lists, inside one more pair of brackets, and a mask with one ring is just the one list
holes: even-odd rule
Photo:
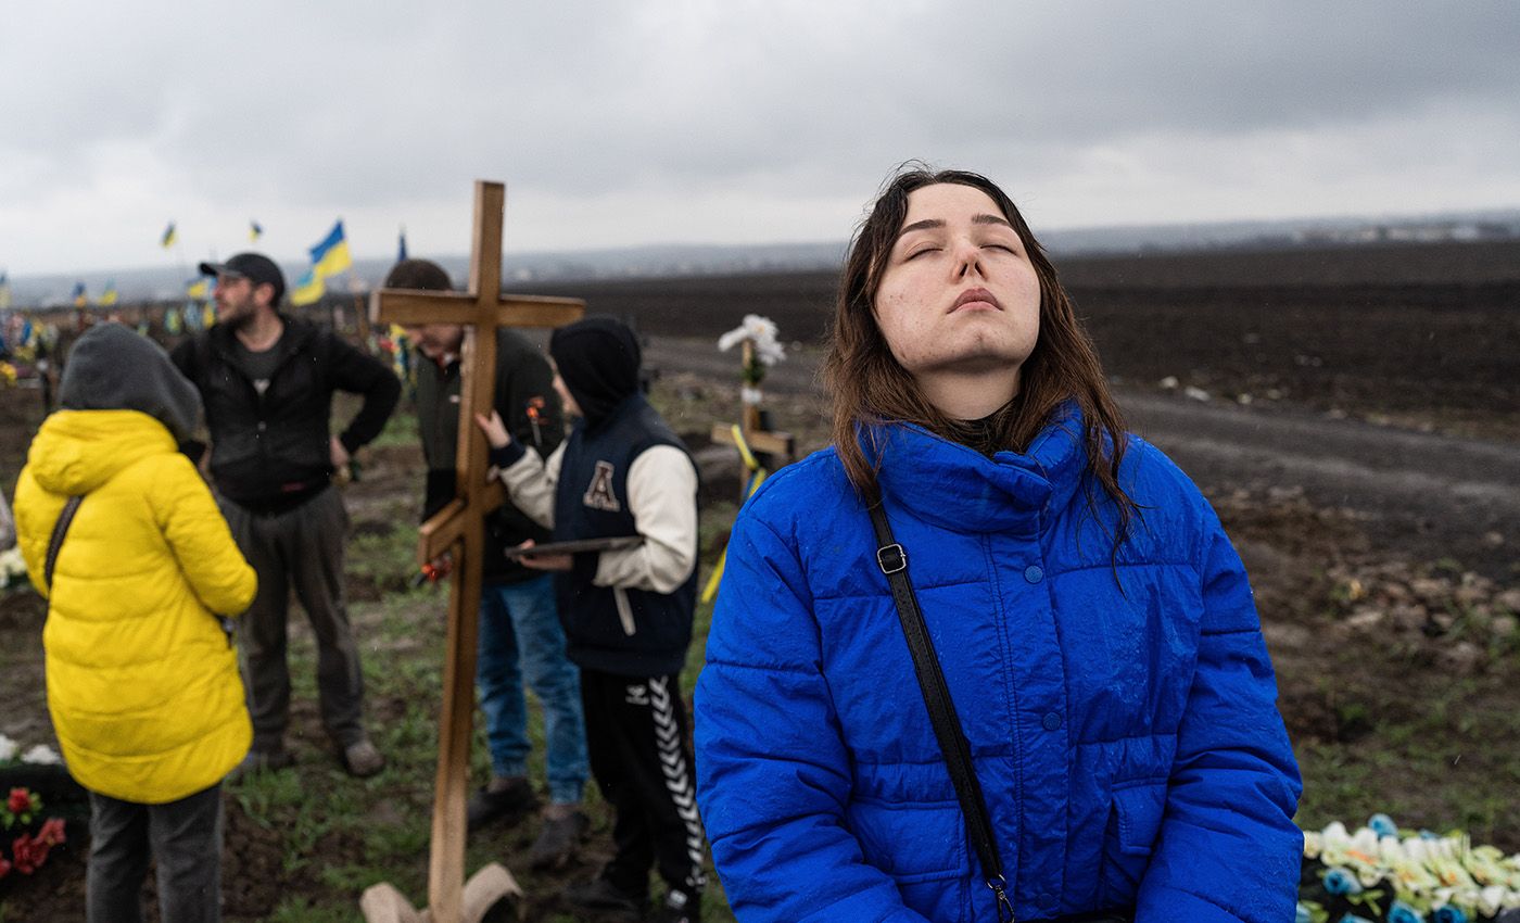
[[[1520, 240], [1056, 257], [1110, 376], [1173, 376], [1351, 414], [1520, 438]], [[716, 338], [746, 313], [819, 342], [838, 275], [538, 286], [652, 335]]]

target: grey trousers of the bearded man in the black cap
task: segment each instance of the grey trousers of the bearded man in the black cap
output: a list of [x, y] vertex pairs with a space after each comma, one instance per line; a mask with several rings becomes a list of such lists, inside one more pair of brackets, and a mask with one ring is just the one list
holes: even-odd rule
[[344, 604], [344, 541], [348, 511], [334, 488], [277, 515], [257, 515], [220, 499], [243, 557], [258, 572], [258, 595], [239, 619], [243, 686], [254, 722], [254, 750], [284, 745], [290, 718], [286, 620], [290, 590], [316, 634], [316, 690], [322, 725], [339, 747], [365, 737], [365, 680]]

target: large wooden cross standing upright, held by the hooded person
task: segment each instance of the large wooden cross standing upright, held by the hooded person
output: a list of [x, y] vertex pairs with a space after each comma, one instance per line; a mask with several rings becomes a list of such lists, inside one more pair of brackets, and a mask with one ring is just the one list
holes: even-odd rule
[[403, 327], [459, 324], [465, 328], [461, 350], [464, 382], [459, 398], [459, 444], [454, 453], [456, 499], [423, 523], [416, 546], [418, 564], [430, 564], [444, 553], [453, 557], [444, 704], [438, 722], [433, 839], [427, 874], [432, 923], [458, 923], [462, 918], [465, 797], [474, 718], [485, 515], [500, 506], [505, 497], [500, 482], [486, 484], [486, 441], [474, 423], [474, 414], [491, 415], [499, 327], [558, 327], [585, 313], [585, 303], [578, 298], [502, 297], [505, 207], [506, 187], [483, 179], [476, 182], [474, 243], [467, 292], [380, 289], [369, 297], [372, 321]]

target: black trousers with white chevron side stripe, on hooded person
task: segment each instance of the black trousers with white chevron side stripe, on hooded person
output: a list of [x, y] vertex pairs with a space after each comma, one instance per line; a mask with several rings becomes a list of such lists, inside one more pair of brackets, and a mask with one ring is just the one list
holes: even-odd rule
[[602, 874], [625, 894], [644, 896], [654, 865], [672, 890], [695, 896], [707, 879], [679, 677], [582, 668], [581, 699], [591, 774], [617, 810], [617, 855]]

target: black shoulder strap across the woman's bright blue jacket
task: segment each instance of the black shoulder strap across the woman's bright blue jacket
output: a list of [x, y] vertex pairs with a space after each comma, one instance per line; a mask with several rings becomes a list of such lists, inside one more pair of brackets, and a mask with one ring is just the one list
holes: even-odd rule
[[924, 613], [918, 608], [918, 598], [914, 595], [914, 584], [907, 579], [907, 552], [892, 537], [892, 526], [886, 522], [886, 512], [880, 500], [869, 506], [871, 528], [876, 529], [876, 563], [886, 575], [886, 582], [892, 587], [892, 602], [897, 604], [897, 617], [903, 623], [903, 634], [907, 637], [907, 651], [914, 655], [914, 672], [918, 674], [918, 689], [924, 693], [924, 704], [929, 707], [929, 721], [935, 727], [935, 737], [939, 741], [939, 753], [950, 768], [950, 782], [955, 783], [956, 800], [961, 801], [961, 812], [965, 815], [965, 827], [971, 835], [971, 845], [976, 847], [977, 859], [982, 861], [982, 874], [986, 887], [997, 896], [997, 918], [1000, 923], [1014, 923], [1014, 905], [1008, 899], [1008, 879], [1003, 877], [1003, 861], [997, 855], [997, 839], [993, 836], [993, 824], [986, 817], [986, 800], [982, 797], [982, 783], [971, 768], [971, 745], [967, 744], [961, 730], [961, 719], [956, 716], [955, 703], [950, 701], [950, 687], [945, 684], [944, 671], [939, 669], [939, 657], [935, 655], [933, 642], [929, 640], [929, 628], [924, 625]]

